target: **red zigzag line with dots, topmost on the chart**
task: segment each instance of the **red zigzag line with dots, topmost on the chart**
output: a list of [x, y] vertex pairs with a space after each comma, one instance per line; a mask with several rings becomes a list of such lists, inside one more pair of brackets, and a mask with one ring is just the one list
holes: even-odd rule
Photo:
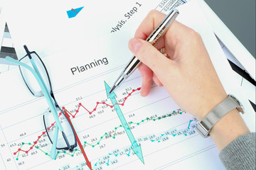
[[[116, 104], [116, 105], [118, 104], [119, 106], [124, 106], [124, 103], [125, 103], [125, 101], [127, 101], [127, 98], [128, 98], [129, 96], [131, 96], [135, 91], [139, 91], [140, 89], [141, 89], [140, 87], [137, 88], [137, 89], [132, 89], [132, 92], [129, 93], [126, 97], [124, 97], [124, 101], [123, 101], [122, 103], [115, 103], [115, 104]], [[97, 102], [95, 108], [93, 108], [92, 111], [89, 111], [87, 108], [85, 108], [85, 106], [82, 105], [82, 103], [79, 103], [78, 109], [75, 111], [75, 114], [74, 114], [74, 115], [73, 115], [72, 113], [70, 113], [69, 111], [67, 111], [67, 110], [65, 109], [65, 107], [63, 107], [63, 111], [66, 111], [70, 116], [72, 116], [72, 118], [75, 118], [75, 116], [79, 113], [80, 108], [84, 108], [85, 111], [87, 111], [87, 112], [91, 115], [93, 112], [96, 111], [97, 106], [100, 105], [100, 104], [110, 106], [110, 108], [113, 108], [113, 107], [114, 107], [114, 105], [109, 105], [109, 104], [107, 104], [107, 103], [105, 103], [105, 102]], [[59, 116], [60, 116], [61, 114], [62, 114], [62, 112], [59, 113]], [[55, 125], [55, 122], [52, 123], [52, 124], [50, 125], [50, 127], [47, 128], [47, 130], [50, 130], [50, 128], [52, 128], [53, 125]], [[45, 135], [45, 134], [46, 134], [46, 131], [43, 131], [42, 134], [41, 134], [40, 136], [38, 136], [38, 139], [37, 139], [35, 142], [33, 142], [33, 145], [32, 145], [29, 149], [23, 150], [23, 149], [21, 149], [21, 148], [18, 148], [18, 150], [17, 150], [16, 152], [14, 152], [14, 155], [16, 155], [18, 152], [25, 152], [26, 154], [28, 154], [28, 152], [31, 151], [31, 149], [33, 149], [33, 147], [35, 147], [35, 145], [37, 144], [38, 140], [40, 140], [40, 138], [41, 138], [43, 135]]]

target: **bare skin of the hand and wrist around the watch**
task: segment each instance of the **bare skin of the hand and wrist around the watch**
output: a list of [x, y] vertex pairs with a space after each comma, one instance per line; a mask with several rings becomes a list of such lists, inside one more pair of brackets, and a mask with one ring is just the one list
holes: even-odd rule
[[[178, 106], [201, 121], [228, 95], [196, 31], [174, 21], [156, 47], [145, 41], [164, 17], [159, 11], [149, 12], [129, 40], [129, 49], [142, 62], [141, 96], [149, 94], [154, 81], [166, 88]], [[159, 52], [163, 47], [167, 56]], [[240, 113], [233, 109], [213, 126], [210, 136], [221, 150], [247, 132], [250, 131]]]

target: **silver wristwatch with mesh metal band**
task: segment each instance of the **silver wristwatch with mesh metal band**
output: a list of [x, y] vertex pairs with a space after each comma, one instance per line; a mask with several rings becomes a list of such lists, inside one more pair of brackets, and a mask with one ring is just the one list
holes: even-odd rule
[[234, 108], [237, 108], [237, 110], [240, 113], [244, 113], [244, 108], [240, 101], [238, 101], [235, 96], [232, 94], [228, 95], [228, 98], [226, 98], [224, 101], [219, 103], [213, 110], [211, 110], [203, 120], [198, 123], [196, 126], [196, 130], [200, 135], [203, 137], [208, 137], [210, 129], [213, 128], [213, 125], [220, 120], [226, 113], [233, 110]]

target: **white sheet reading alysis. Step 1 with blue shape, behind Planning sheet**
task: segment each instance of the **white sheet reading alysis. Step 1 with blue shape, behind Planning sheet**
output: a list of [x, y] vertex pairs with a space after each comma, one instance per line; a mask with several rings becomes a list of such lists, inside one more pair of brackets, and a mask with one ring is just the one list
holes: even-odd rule
[[[8, 16], [6, 19], [18, 58], [24, 55], [23, 45], [44, 57], [110, 34], [112, 30], [119, 32], [124, 28], [138, 26], [149, 10], [156, 8], [159, 2], [6, 1], [4, 13]], [[77, 16], [68, 18], [67, 11], [82, 6]]]

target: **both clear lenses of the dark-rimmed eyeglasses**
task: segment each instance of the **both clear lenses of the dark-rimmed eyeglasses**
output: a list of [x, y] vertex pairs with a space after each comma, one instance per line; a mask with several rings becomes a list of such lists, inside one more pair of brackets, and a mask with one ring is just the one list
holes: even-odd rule
[[[48, 77], [48, 73], [46, 70], [46, 66], [43, 64], [43, 61], [41, 58], [36, 54], [36, 52], [30, 52], [31, 58], [34, 60], [36, 67], [38, 67], [38, 71], [41, 74], [41, 77], [43, 81], [46, 84], [46, 88], [50, 92], [51, 96], [53, 97], [53, 100], [55, 101], [55, 98], [53, 96], [53, 91], [50, 86], [50, 78]], [[31, 59], [26, 55], [25, 57], [21, 58], [21, 62], [28, 64], [29, 66], [33, 67], [31, 64]], [[23, 77], [23, 80], [25, 81], [26, 86], [28, 86], [29, 91], [36, 96], [40, 97], [43, 96], [43, 92], [41, 90], [41, 87], [38, 84], [38, 81], [33, 76], [31, 72], [29, 72], [28, 69], [19, 67], [21, 76]], [[65, 117], [63, 111], [61, 111], [60, 107], [58, 106], [58, 103], [55, 101], [55, 106], [57, 108], [57, 111], [59, 113], [59, 120], [63, 127], [63, 132], [58, 133], [58, 142], [57, 142], [57, 149], [70, 149], [70, 151], [73, 150], [74, 147], [77, 145], [77, 141], [75, 139], [75, 133], [73, 131], [72, 126], [70, 125], [68, 119]], [[50, 142], [53, 143], [54, 135], [55, 135], [55, 119], [53, 117], [53, 114], [50, 112], [50, 109], [46, 111], [43, 115], [43, 123], [46, 128], [46, 132], [48, 134], [48, 137], [50, 139]]]

